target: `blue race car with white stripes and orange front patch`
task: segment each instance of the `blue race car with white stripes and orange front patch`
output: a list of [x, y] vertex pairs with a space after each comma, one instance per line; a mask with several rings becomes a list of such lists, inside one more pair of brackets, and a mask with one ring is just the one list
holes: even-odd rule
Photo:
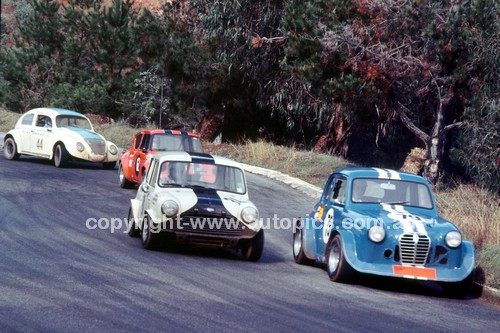
[[442, 282], [452, 293], [472, 282], [474, 247], [439, 217], [422, 177], [376, 168], [334, 172], [308, 217], [296, 222], [298, 264], [326, 264], [332, 281], [360, 273]]

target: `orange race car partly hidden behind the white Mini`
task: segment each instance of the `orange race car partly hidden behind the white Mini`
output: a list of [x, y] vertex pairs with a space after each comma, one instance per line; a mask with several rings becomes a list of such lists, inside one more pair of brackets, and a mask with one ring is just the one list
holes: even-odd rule
[[191, 132], [161, 129], [140, 131], [118, 162], [120, 187], [134, 188], [135, 184], [142, 183], [151, 154], [159, 151], [203, 153], [203, 147], [199, 136]]

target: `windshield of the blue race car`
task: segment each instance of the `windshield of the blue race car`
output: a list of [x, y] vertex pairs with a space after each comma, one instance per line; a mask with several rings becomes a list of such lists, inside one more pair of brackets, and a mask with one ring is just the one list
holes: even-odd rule
[[352, 182], [353, 203], [378, 203], [432, 209], [431, 193], [421, 183], [404, 180], [357, 178]]

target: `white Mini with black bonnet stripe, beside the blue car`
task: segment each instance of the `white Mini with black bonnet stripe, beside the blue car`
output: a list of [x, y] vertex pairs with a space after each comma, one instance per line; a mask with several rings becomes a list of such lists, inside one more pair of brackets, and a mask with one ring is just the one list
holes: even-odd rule
[[150, 158], [147, 174], [131, 200], [129, 236], [141, 235], [146, 249], [165, 240], [239, 248], [246, 260], [260, 259], [264, 230], [237, 162], [188, 152], [158, 153]]

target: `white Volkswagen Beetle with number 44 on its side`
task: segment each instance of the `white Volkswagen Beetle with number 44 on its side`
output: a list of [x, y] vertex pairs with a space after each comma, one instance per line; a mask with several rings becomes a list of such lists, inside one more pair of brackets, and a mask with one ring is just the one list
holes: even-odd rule
[[119, 158], [116, 145], [94, 132], [87, 117], [56, 108], [26, 112], [5, 135], [4, 155], [8, 160], [16, 160], [20, 155], [44, 157], [54, 160], [58, 168], [75, 159], [113, 169]]

